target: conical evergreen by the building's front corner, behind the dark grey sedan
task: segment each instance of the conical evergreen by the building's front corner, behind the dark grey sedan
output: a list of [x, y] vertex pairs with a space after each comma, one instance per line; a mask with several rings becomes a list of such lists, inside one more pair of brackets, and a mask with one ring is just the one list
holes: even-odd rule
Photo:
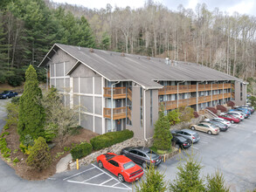
[[160, 113], [159, 119], [156, 120], [154, 130], [154, 146], [161, 150], [171, 149], [172, 134], [170, 134], [170, 122], [163, 112]]

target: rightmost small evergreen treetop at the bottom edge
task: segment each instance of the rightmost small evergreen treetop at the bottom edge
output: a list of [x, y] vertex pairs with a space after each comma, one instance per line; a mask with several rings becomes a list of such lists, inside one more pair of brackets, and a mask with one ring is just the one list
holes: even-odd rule
[[208, 192], [229, 192], [229, 188], [225, 187], [225, 180], [222, 173], [217, 170], [214, 175], [207, 175], [207, 189]]

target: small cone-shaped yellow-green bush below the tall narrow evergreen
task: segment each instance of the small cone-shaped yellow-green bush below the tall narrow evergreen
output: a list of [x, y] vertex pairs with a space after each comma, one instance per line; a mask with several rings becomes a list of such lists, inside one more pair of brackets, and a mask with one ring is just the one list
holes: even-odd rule
[[28, 156], [26, 163], [32, 168], [42, 170], [48, 168], [52, 162], [50, 150], [43, 137], [38, 137], [35, 145], [31, 147], [31, 154]]

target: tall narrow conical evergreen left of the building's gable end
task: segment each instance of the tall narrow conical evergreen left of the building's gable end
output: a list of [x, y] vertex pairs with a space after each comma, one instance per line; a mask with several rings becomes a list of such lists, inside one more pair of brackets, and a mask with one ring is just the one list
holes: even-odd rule
[[25, 72], [24, 93], [19, 101], [17, 131], [20, 141], [29, 134], [33, 139], [44, 136], [45, 110], [39, 104], [42, 98], [41, 89], [38, 87], [38, 77], [32, 65]]

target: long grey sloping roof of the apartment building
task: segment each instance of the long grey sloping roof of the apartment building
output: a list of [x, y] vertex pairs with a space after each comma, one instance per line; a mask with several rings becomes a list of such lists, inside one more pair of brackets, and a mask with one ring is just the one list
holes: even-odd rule
[[[146, 56], [123, 54], [114, 51], [103, 51], [72, 45], [55, 44], [38, 65], [46, 65], [55, 52], [61, 49], [76, 58], [76, 65], [86, 65], [94, 72], [109, 81], [132, 80], [146, 89], [162, 88], [158, 80], [170, 81], [212, 81], [237, 80], [224, 72], [209, 67], [187, 62], [174, 61], [167, 65], [164, 58], [149, 58]], [[75, 68], [76, 66], [73, 66]], [[70, 70], [72, 73], [73, 70]]]

